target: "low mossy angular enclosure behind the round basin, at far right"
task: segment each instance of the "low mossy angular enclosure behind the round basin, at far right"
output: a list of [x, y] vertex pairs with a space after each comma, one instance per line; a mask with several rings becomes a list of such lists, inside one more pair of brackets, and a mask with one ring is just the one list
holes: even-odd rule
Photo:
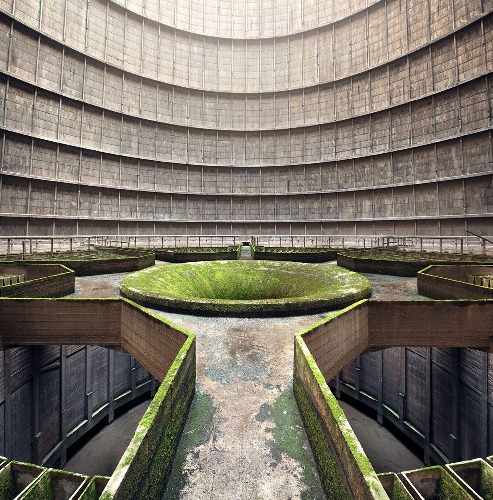
[[387, 250], [383, 248], [337, 253], [337, 265], [356, 272], [416, 276], [428, 265], [491, 264], [491, 255]]

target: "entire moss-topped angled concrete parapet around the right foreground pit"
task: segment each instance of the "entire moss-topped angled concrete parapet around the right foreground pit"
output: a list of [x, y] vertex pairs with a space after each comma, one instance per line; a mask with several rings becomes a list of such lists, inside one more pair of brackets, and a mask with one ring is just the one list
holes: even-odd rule
[[293, 391], [327, 498], [387, 498], [327, 380], [359, 354], [386, 347], [492, 352], [492, 321], [491, 300], [361, 300], [296, 333]]

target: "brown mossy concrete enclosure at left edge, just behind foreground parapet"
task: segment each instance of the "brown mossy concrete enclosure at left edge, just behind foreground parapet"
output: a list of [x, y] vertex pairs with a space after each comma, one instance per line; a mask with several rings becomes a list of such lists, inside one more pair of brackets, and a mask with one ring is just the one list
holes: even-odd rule
[[0, 263], [0, 274], [23, 274], [24, 281], [0, 286], [0, 297], [62, 297], [73, 293], [75, 273], [61, 264]]

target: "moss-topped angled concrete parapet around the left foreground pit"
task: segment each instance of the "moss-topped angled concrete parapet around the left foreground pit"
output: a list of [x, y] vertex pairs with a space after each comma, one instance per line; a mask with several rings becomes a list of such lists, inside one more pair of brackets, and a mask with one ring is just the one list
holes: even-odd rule
[[[193, 398], [195, 336], [127, 299], [0, 298], [0, 316], [3, 348], [111, 345], [162, 380], [102, 493], [94, 481], [83, 493], [88, 499], [160, 499]], [[0, 474], [11, 467], [4, 470]]]

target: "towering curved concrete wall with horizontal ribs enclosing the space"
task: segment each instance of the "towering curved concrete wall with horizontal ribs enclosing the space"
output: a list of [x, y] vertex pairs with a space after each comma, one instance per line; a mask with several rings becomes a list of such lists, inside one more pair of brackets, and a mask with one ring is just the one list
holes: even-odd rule
[[0, 8], [5, 233], [490, 224], [491, 2]]

